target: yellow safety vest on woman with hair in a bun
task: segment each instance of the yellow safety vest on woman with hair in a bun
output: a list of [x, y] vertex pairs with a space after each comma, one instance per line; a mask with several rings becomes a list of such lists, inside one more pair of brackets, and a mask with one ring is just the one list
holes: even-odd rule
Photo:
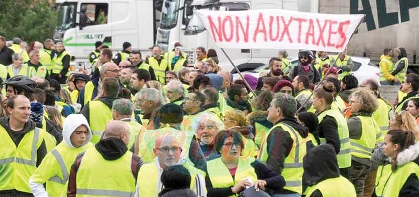
[[[329, 109], [326, 111], [323, 111], [318, 116], [318, 122], [319, 124], [323, 120], [323, 118], [329, 115], [333, 118], [335, 118], [337, 124], [338, 124], [338, 135], [341, 142], [340, 151], [337, 155], [338, 157], [338, 165], [339, 168], [347, 168], [352, 165], [352, 157], [350, 153], [350, 139], [349, 139], [349, 131], [348, 131], [348, 124], [346, 123], [345, 117], [341, 114], [340, 111]], [[321, 144], [326, 144], [325, 138], [320, 138]]]

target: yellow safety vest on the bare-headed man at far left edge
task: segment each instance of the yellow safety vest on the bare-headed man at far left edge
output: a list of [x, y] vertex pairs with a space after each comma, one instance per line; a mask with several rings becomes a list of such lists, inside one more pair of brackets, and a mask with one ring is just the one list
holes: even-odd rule
[[32, 193], [29, 178], [36, 170], [37, 150], [45, 131], [35, 128], [23, 136], [16, 147], [7, 131], [0, 126], [0, 191], [18, 190]]

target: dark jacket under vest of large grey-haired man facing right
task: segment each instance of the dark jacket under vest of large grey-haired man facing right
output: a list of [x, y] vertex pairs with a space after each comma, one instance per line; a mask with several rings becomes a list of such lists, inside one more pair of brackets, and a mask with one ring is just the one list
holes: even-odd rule
[[[281, 122], [290, 125], [296, 131], [298, 131], [301, 137], [306, 138], [308, 136], [308, 129], [298, 124], [296, 118], [285, 118], [279, 120], [274, 125], [277, 125]], [[284, 168], [285, 158], [288, 157], [289, 153], [291, 152], [292, 144], [293, 140], [291, 136], [287, 131], [284, 131], [282, 127], [276, 127], [274, 130], [272, 130], [268, 135], [266, 144], [266, 151], [268, 153], [266, 164], [268, 167], [273, 169], [278, 174], [281, 174]], [[292, 194], [295, 192], [281, 188], [280, 190], [275, 191], [275, 193]]]

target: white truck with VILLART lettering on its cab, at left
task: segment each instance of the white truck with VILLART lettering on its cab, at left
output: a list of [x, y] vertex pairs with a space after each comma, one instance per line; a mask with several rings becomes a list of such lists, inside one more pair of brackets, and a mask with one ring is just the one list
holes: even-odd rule
[[[53, 39], [64, 43], [75, 57], [76, 67], [84, 68], [90, 67], [87, 57], [95, 50], [96, 41], [115, 52], [122, 50], [124, 42], [130, 42], [133, 49], [149, 50], [160, 18], [155, 1], [56, 0], [59, 21]], [[80, 23], [81, 14], [87, 17], [85, 26]]]

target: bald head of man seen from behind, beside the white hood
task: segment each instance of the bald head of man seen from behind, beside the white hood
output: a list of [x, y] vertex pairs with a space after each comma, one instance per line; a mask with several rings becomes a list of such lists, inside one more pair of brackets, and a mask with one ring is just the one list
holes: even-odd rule
[[123, 121], [109, 121], [105, 127], [102, 139], [107, 139], [111, 137], [121, 139], [125, 144], [128, 145], [128, 143], [130, 142], [130, 128]]

